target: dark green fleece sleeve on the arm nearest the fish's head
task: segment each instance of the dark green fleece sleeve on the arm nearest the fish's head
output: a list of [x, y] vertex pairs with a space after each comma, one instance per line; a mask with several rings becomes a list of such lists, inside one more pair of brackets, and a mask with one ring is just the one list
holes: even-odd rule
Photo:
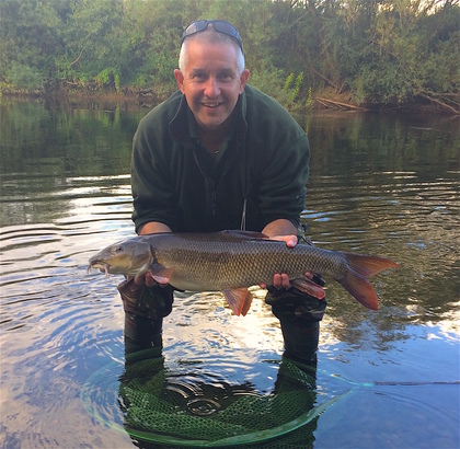
[[[175, 228], [176, 210], [173, 181], [164, 161], [168, 142], [158, 133], [159, 126], [146, 116], [133, 140], [131, 189], [134, 199], [133, 221], [139, 233], [143, 225], [159, 221]], [[152, 133], [157, 129], [157, 133]], [[171, 142], [172, 145], [172, 142]]]

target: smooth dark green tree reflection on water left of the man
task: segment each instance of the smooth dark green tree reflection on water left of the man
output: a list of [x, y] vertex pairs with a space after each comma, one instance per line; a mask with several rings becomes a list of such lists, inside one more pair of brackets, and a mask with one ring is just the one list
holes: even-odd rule
[[72, 198], [129, 182], [111, 176], [129, 173], [136, 114], [34, 103], [2, 103], [0, 112], [2, 223], [49, 222]]

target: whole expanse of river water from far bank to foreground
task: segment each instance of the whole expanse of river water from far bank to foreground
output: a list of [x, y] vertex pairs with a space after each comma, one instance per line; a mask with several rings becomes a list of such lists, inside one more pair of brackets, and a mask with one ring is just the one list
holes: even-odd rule
[[147, 110], [3, 101], [0, 112], [0, 446], [460, 446], [458, 119], [297, 117], [312, 148], [313, 242], [401, 265], [372, 279], [377, 312], [327, 279], [315, 367], [281, 359], [256, 290], [245, 318], [218, 293], [177, 295], [164, 358], [136, 370], [122, 279], [87, 266], [134, 234], [130, 140]]

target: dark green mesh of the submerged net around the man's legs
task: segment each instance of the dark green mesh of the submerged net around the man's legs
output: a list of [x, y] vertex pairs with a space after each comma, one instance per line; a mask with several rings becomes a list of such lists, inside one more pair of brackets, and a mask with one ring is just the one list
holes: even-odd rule
[[125, 428], [133, 437], [175, 447], [231, 447], [292, 433], [279, 446], [273, 441], [263, 447], [308, 448], [318, 416], [336, 400], [318, 405], [314, 371], [288, 360], [281, 362], [274, 391], [267, 394], [250, 385], [222, 389], [205, 383], [195, 383], [187, 392], [172, 379], [162, 359], [127, 366], [119, 398]]

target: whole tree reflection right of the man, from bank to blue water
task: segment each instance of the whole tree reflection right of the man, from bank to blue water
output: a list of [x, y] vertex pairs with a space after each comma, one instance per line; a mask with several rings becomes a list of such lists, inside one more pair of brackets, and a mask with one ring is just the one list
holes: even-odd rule
[[406, 324], [452, 320], [459, 134], [448, 123], [416, 125], [380, 115], [308, 123], [312, 163], [303, 219], [313, 241], [401, 265], [371, 279], [381, 299], [377, 313], [331, 286], [327, 315], [336, 325], [330, 332], [340, 341], [363, 342], [366, 334], [386, 345]]

